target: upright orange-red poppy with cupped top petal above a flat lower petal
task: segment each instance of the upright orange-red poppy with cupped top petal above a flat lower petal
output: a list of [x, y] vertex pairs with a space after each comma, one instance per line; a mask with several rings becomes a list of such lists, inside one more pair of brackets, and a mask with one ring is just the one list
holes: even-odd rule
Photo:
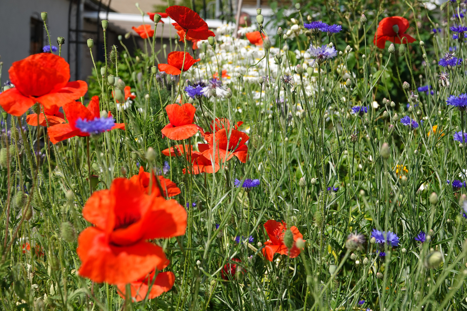
[[[172, 52], [173, 53], [173, 52]], [[169, 124], [167, 124], [161, 132], [169, 139], [182, 140], [195, 135], [198, 130], [203, 132], [203, 129], [193, 123], [196, 108], [192, 104], [170, 104], [165, 107]]]

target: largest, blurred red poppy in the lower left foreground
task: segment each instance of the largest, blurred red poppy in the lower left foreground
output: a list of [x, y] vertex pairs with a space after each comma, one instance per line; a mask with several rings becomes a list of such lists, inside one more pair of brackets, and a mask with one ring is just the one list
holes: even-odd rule
[[167, 267], [163, 249], [148, 239], [184, 235], [186, 211], [176, 200], [148, 195], [134, 180], [116, 178], [83, 208], [94, 226], [78, 237], [79, 275], [97, 283], [131, 283]]

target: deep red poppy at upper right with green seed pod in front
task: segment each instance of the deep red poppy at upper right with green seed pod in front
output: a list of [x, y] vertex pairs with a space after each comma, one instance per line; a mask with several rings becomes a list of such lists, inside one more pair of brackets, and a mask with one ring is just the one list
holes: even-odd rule
[[409, 21], [405, 18], [401, 16], [385, 17], [379, 22], [373, 44], [376, 44], [378, 48], [384, 48], [386, 41], [401, 43], [402, 40], [403, 43], [412, 43], [415, 39], [405, 34], [407, 29], [409, 29]]

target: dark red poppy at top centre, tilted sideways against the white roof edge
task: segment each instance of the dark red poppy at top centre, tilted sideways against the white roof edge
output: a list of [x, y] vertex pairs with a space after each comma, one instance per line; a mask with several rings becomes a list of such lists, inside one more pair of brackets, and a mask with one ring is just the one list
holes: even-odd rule
[[[165, 9], [165, 13], [169, 14], [170, 18], [183, 28], [187, 35], [198, 40], [207, 40], [215, 34], [209, 30], [206, 22], [199, 17], [198, 13], [188, 7], [171, 6]], [[174, 25], [173, 23], [172, 25]], [[175, 25], [174, 25], [175, 26]]]

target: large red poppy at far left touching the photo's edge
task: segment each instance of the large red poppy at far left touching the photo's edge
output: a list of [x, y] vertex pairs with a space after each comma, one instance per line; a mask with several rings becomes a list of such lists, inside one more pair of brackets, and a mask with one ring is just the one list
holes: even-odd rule
[[39, 53], [14, 62], [8, 70], [14, 88], [0, 94], [0, 105], [9, 114], [21, 116], [35, 103], [47, 109], [70, 103], [87, 92], [87, 84], [70, 80], [70, 65], [63, 57]]

